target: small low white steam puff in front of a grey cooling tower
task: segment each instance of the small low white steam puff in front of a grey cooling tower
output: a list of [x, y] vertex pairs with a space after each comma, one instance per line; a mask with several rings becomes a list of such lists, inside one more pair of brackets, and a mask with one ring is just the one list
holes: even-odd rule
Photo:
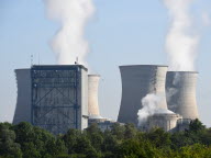
[[162, 101], [160, 97], [154, 93], [149, 93], [142, 99], [143, 108], [137, 112], [138, 126], [145, 124], [147, 121], [147, 117], [156, 113], [160, 101]]

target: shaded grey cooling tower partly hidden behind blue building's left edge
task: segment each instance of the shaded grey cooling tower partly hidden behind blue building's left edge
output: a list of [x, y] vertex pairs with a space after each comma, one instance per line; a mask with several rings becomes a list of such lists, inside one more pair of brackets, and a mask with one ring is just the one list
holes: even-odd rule
[[31, 122], [31, 69], [16, 69], [18, 99], [13, 124]]

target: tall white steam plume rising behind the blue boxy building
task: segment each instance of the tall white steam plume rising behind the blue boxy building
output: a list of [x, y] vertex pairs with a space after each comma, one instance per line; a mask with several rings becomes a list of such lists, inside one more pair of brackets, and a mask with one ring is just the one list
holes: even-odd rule
[[69, 65], [79, 58], [86, 65], [89, 52], [84, 37], [85, 26], [95, 12], [92, 0], [43, 0], [49, 19], [60, 23], [60, 29], [52, 41], [52, 49], [59, 65]]

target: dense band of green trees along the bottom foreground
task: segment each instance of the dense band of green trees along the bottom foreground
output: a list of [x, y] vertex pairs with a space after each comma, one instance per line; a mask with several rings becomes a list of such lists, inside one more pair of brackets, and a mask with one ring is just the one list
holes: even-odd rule
[[29, 123], [0, 123], [0, 158], [211, 158], [211, 128], [198, 120], [189, 129], [140, 132], [132, 124], [114, 124], [101, 132], [92, 124], [85, 132], [51, 133]]

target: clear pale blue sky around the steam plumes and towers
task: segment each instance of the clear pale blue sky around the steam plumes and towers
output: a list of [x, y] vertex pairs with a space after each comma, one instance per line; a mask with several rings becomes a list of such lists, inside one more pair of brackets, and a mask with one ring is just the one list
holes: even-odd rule
[[[90, 72], [101, 75], [101, 115], [116, 120], [121, 102], [121, 65], [167, 65], [168, 12], [162, 0], [93, 0], [96, 12], [86, 27]], [[211, 1], [193, 0], [191, 15], [200, 34], [196, 69], [200, 120], [211, 126]], [[42, 0], [0, 0], [0, 122], [12, 122], [14, 69], [54, 65], [49, 43], [59, 24], [46, 16]]]

